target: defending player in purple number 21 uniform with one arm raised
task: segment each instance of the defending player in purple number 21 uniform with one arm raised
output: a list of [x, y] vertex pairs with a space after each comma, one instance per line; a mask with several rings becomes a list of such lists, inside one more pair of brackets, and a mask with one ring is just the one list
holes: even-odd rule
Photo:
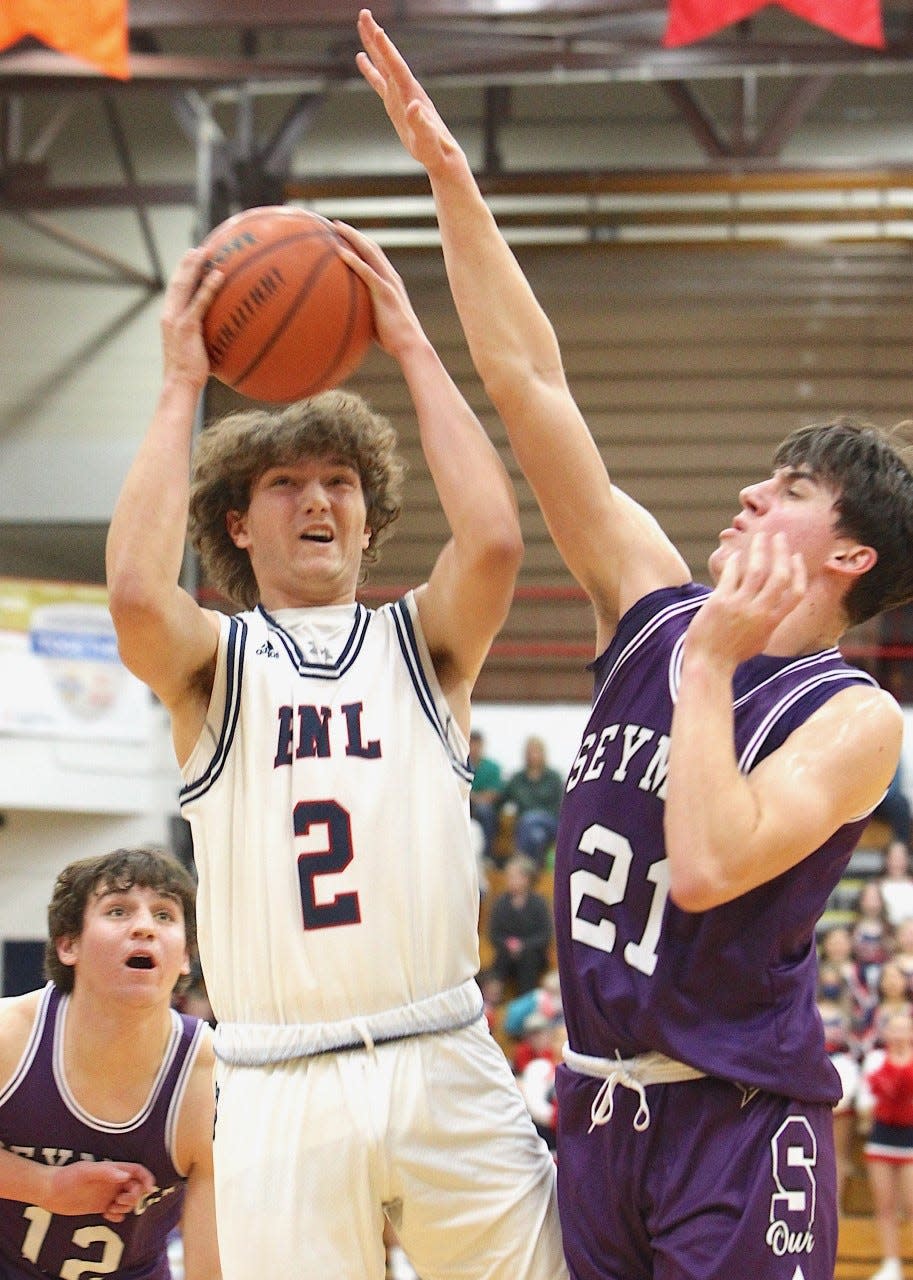
[[469, 163], [364, 10], [359, 65], [428, 170], [473, 360], [595, 613], [556, 850], [569, 1029], [558, 1199], [576, 1280], [831, 1280], [840, 1096], [814, 927], [901, 744], [837, 652], [913, 598], [913, 475], [852, 420], [795, 431], [691, 584], [608, 479]]

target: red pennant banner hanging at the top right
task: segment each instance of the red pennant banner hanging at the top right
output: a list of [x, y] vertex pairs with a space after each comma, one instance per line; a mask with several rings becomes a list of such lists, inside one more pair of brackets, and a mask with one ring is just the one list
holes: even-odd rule
[[[764, 9], [770, 0], [670, 0], [663, 45], [675, 49], [706, 40]], [[885, 47], [881, 0], [773, 0], [796, 18], [855, 45]]]

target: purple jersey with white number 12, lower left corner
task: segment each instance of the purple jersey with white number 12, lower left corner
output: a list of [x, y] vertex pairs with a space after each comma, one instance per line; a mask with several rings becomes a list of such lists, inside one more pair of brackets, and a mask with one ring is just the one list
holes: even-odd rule
[[172, 1037], [142, 1110], [123, 1124], [79, 1107], [63, 1074], [67, 997], [49, 983], [15, 1075], [0, 1093], [0, 1143], [31, 1160], [127, 1160], [145, 1165], [155, 1189], [123, 1222], [54, 1215], [0, 1199], [0, 1276], [170, 1280], [168, 1235], [181, 1220], [184, 1178], [172, 1161], [177, 1117], [200, 1044], [201, 1023], [173, 1012]]

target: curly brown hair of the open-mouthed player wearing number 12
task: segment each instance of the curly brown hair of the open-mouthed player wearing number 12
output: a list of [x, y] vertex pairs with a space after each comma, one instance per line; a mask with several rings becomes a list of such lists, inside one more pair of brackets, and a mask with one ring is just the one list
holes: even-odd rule
[[[58, 955], [58, 942], [78, 938], [86, 918], [86, 905], [97, 891], [128, 890], [134, 884], [151, 888], [179, 902], [184, 913], [184, 937], [191, 960], [196, 956], [196, 884], [193, 877], [178, 859], [155, 845], [134, 849], [115, 849], [110, 854], [81, 858], [70, 863], [54, 882], [54, 892], [47, 905], [47, 942], [45, 943], [45, 974], [54, 986], [69, 993], [73, 991], [74, 972]], [[181, 978], [175, 991], [187, 984]]]

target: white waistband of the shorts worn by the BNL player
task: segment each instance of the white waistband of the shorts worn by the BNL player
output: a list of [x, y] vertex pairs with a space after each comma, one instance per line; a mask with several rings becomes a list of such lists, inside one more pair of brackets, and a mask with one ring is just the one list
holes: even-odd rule
[[296, 1057], [337, 1053], [344, 1050], [374, 1050], [387, 1041], [407, 1039], [469, 1027], [483, 1015], [483, 998], [475, 979], [437, 992], [411, 1005], [384, 1009], [361, 1018], [334, 1023], [223, 1023], [215, 1028], [216, 1057], [232, 1066], [269, 1066]]

